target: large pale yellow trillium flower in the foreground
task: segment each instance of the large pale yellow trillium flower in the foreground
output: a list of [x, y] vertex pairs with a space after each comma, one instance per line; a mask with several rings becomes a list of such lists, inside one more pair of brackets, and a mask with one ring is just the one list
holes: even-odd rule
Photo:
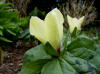
[[57, 8], [50, 11], [44, 20], [32, 16], [30, 19], [30, 34], [34, 35], [43, 44], [49, 42], [57, 50], [61, 46], [63, 22], [63, 15]]

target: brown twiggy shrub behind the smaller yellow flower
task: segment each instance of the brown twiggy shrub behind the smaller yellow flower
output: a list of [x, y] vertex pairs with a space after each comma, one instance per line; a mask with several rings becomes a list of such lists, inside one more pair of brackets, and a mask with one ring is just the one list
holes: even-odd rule
[[93, 6], [94, 0], [68, 0], [66, 4], [60, 6], [65, 18], [65, 25], [68, 26], [67, 15], [75, 18], [85, 16], [82, 26], [88, 25], [96, 18], [96, 8]]

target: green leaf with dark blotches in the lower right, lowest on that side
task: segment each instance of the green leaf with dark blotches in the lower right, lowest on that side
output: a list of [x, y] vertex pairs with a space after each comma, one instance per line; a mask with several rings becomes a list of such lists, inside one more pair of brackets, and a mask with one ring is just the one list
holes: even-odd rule
[[95, 73], [95, 66], [90, 62], [73, 56], [64, 55], [64, 59], [78, 72], [78, 73]]

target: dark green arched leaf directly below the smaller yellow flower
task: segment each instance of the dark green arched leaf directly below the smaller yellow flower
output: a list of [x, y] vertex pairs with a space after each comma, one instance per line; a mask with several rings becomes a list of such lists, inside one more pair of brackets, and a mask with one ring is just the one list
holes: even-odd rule
[[90, 40], [86, 37], [78, 37], [77, 39], [73, 40], [68, 45], [68, 50], [76, 49], [76, 48], [87, 48], [87, 49], [95, 49], [94, 41]]

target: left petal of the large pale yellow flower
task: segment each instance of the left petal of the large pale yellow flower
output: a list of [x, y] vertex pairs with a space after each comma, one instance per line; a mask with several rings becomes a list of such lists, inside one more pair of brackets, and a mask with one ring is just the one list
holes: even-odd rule
[[47, 42], [46, 25], [43, 20], [38, 17], [31, 17], [30, 19], [30, 34], [34, 35], [43, 44]]

